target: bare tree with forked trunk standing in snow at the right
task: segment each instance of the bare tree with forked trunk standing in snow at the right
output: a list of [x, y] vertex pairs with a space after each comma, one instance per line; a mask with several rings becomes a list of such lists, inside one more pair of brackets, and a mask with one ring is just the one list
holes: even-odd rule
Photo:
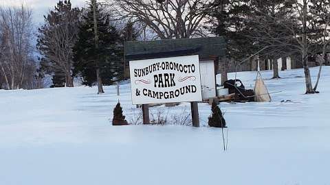
[[[273, 1], [270, 2], [274, 3]], [[314, 3], [319, 2], [316, 1]], [[274, 58], [287, 56], [287, 53], [299, 53], [301, 55], [307, 94], [316, 93], [316, 88], [313, 88], [311, 83], [308, 56], [318, 53], [320, 40], [328, 38], [327, 32], [322, 32], [321, 37], [318, 36], [318, 30], [320, 29], [316, 28], [314, 20], [314, 18], [317, 18], [317, 15], [311, 12], [311, 4], [313, 4], [311, 0], [283, 1], [281, 3], [283, 10], [281, 11], [279, 11], [280, 8], [277, 11], [270, 11], [270, 14], [261, 12], [259, 15], [252, 16], [252, 23], [254, 24], [254, 36], [252, 37], [260, 45], [269, 47], [265, 50], [265, 53], [273, 56], [273, 60]], [[278, 14], [278, 12], [285, 14]], [[321, 10], [321, 12], [327, 11]], [[323, 24], [321, 26], [323, 27], [322, 29], [327, 30], [325, 25], [329, 24], [329, 22]], [[321, 43], [324, 46], [326, 42], [322, 41]], [[276, 65], [274, 65], [274, 68], [276, 68]], [[320, 66], [321, 68], [322, 66]]]

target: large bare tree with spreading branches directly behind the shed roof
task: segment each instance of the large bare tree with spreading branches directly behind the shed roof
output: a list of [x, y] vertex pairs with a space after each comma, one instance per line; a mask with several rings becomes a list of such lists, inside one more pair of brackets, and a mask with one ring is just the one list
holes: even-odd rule
[[205, 36], [202, 27], [208, 0], [107, 0], [118, 19], [143, 23], [155, 38], [192, 38]]

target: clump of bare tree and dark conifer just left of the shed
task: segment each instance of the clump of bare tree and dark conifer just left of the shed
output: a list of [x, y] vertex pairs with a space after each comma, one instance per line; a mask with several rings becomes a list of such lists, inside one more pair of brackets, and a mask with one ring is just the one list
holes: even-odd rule
[[83, 84], [97, 84], [98, 93], [104, 93], [102, 85], [123, 79], [124, 41], [134, 40], [137, 31], [129, 21], [118, 26], [105, 9], [95, 0], [82, 9], [59, 1], [45, 16], [37, 48], [43, 55], [41, 69], [53, 75], [54, 86], [72, 87], [80, 76]]

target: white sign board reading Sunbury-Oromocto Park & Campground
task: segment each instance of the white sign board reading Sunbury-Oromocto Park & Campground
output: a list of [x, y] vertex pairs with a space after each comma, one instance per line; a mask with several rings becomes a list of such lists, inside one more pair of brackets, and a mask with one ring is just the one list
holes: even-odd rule
[[133, 104], [201, 101], [198, 56], [129, 62]]

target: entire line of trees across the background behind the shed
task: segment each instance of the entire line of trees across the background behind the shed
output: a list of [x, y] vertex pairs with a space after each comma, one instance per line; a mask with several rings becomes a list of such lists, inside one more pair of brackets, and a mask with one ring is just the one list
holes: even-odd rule
[[[9, 10], [30, 14], [23, 7], [2, 8], [1, 14]], [[322, 65], [329, 64], [329, 10], [329, 0], [90, 0], [86, 8], [58, 1], [38, 29], [37, 49], [42, 56], [38, 67], [28, 62], [31, 51], [20, 56], [24, 60], [14, 57], [23, 55], [13, 50], [20, 47], [12, 47], [21, 42], [8, 44], [11, 26], [2, 25], [10, 21], [1, 16], [0, 43], [6, 45], [1, 53], [12, 56], [0, 56], [0, 82], [5, 82], [2, 87], [19, 88], [29, 81], [27, 77], [35, 80], [50, 74], [54, 86], [73, 86], [74, 77], [80, 76], [83, 84], [98, 84], [102, 93], [102, 85], [124, 78], [124, 41], [223, 36], [227, 58], [239, 63], [258, 53], [259, 60], [272, 61], [276, 78], [280, 77], [277, 59], [296, 56], [304, 69], [306, 93], [316, 93]], [[31, 21], [30, 16], [24, 18]], [[25, 27], [28, 33], [30, 25]], [[312, 84], [309, 58], [315, 56], [322, 60], [317, 82]], [[23, 66], [30, 72], [23, 75], [25, 79], [13, 72], [19, 68], [15, 61], [26, 61]], [[228, 62], [222, 64], [226, 71]]]

